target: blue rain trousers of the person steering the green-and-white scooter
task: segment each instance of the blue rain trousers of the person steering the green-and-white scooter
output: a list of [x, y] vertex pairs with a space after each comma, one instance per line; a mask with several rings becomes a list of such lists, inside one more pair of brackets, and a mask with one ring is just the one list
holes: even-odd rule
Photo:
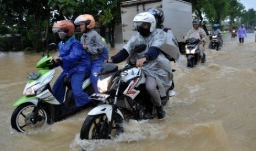
[[[83, 80], [85, 73], [74, 73], [71, 75], [71, 86], [73, 95], [75, 98], [75, 104], [77, 107], [84, 106], [89, 103], [91, 100], [88, 98], [88, 94], [86, 94], [82, 90]], [[52, 91], [53, 96], [62, 104], [66, 92], [66, 85], [64, 85], [64, 75], [61, 74], [57, 78], [55, 84], [53, 84]]]

